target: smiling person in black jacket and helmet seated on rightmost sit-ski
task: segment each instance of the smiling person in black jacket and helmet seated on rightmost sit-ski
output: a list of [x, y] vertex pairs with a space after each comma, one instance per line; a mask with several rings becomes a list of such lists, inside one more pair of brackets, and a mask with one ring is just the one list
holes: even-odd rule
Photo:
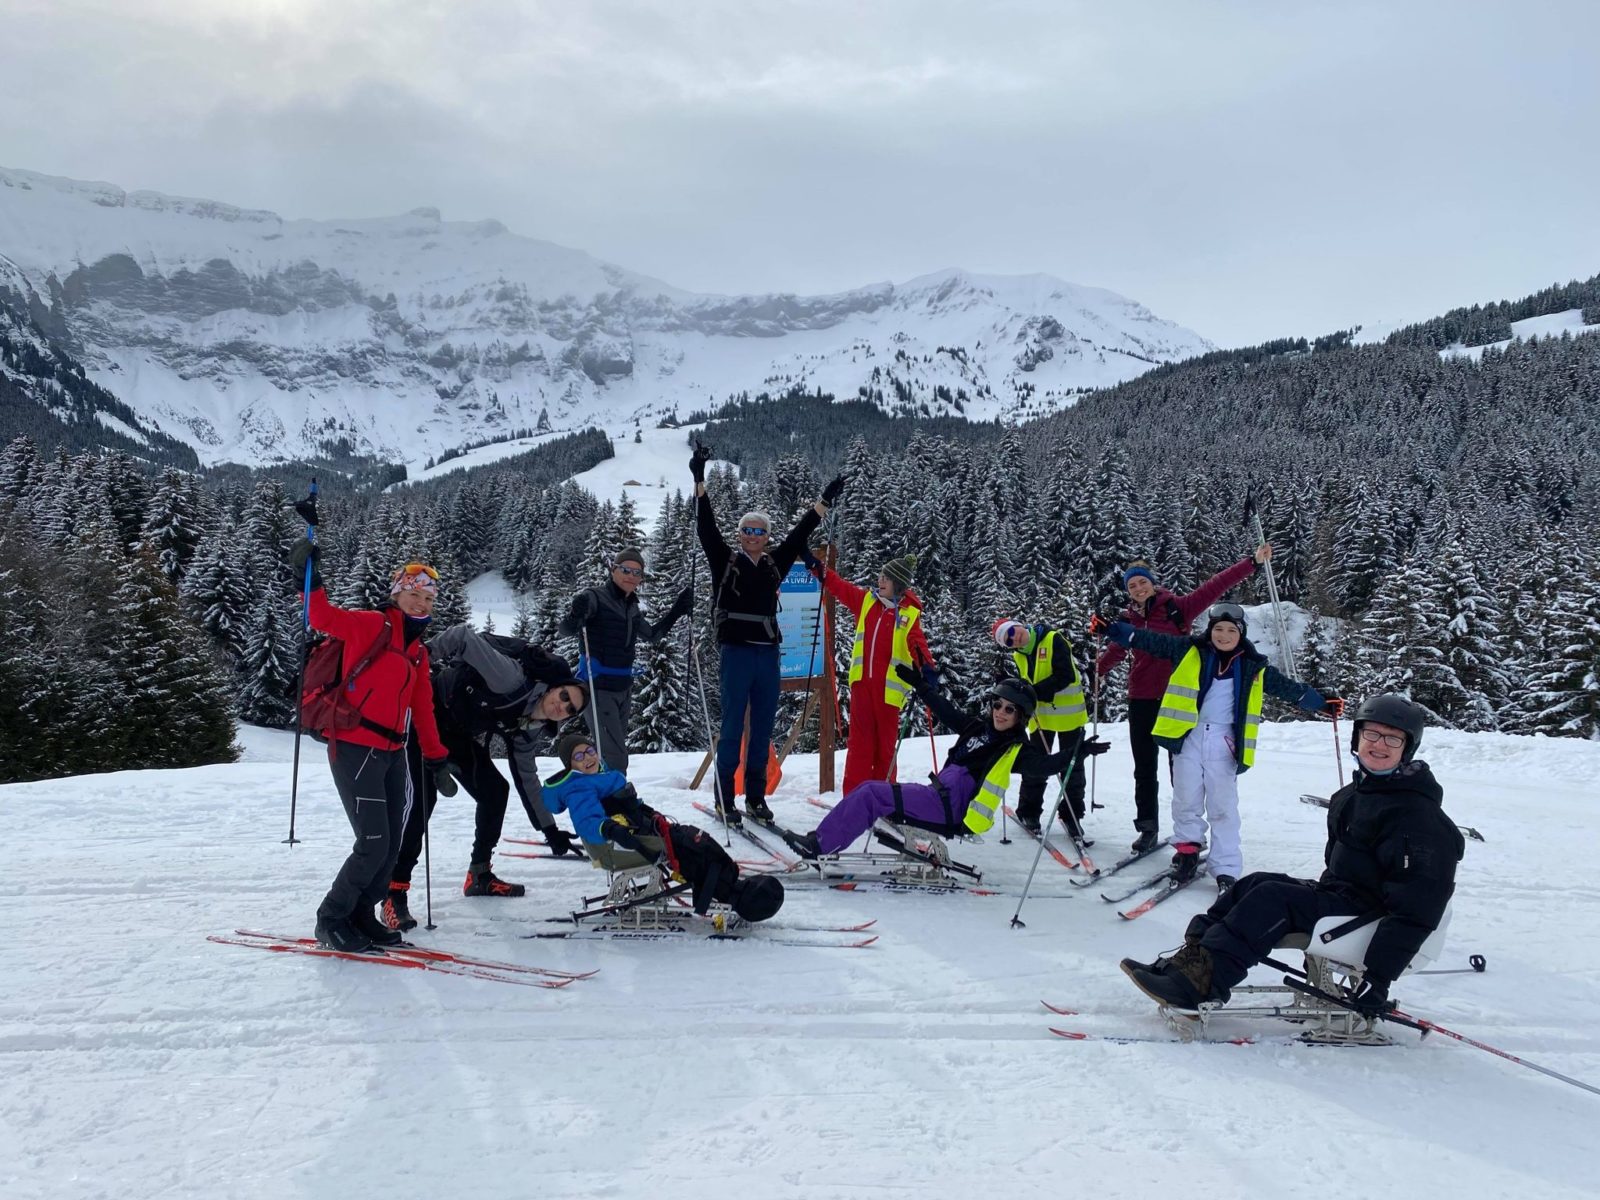
[[1445, 816], [1445, 790], [1422, 747], [1426, 710], [1405, 696], [1371, 696], [1355, 710], [1355, 773], [1328, 803], [1326, 869], [1320, 878], [1245, 875], [1189, 922], [1184, 946], [1154, 963], [1122, 970], [1160, 1005], [1226, 1003], [1230, 989], [1290, 933], [1323, 917], [1378, 920], [1354, 1003], [1366, 1016], [1387, 1008], [1389, 987], [1438, 928], [1456, 891], [1467, 843]]

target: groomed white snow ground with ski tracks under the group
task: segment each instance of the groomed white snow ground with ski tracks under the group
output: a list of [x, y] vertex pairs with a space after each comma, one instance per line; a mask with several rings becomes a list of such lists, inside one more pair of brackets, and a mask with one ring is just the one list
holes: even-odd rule
[[[1107, 731], [1106, 810], [1090, 832], [1109, 862], [1131, 834], [1131, 781], [1126, 738]], [[1174, 946], [1211, 888], [1131, 925], [1098, 888], [1030, 899], [1013, 931], [1037, 848], [1026, 837], [962, 846], [1011, 896], [789, 893], [779, 920], [877, 917], [883, 936], [867, 950], [530, 942], [517, 934], [602, 877], [502, 858], [525, 899], [461, 896], [462, 794], [432, 829], [438, 930], [414, 939], [598, 976], [547, 992], [206, 942], [234, 928], [309, 933], [349, 846], [320, 747], [302, 744], [304, 843], [291, 848], [291, 739], [242, 741], [230, 766], [0, 787], [6, 1200], [1594, 1194], [1600, 1099], [1445, 1038], [1330, 1050], [1050, 1037], [1051, 1024], [1162, 1035], [1117, 960]], [[1325, 814], [1296, 797], [1336, 786], [1330, 757], [1326, 725], [1266, 726], [1262, 762], [1242, 779], [1246, 869], [1320, 867]], [[1451, 816], [1488, 838], [1467, 845], [1435, 966], [1477, 952], [1488, 973], [1406, 979], [1397, 997], [1600, 1082], [1586, 1021], [1600, 998], [1600, 885], [1573, 837], [1592, 826], [1600, 746], [1429, 731], [1424, 757]], [[694, 819], [682, 789], [698, 758], [637, 757], [630, 774], [651, 803]], [[904, 778], [926, 765], [923, 746], [902, 749]], [[779, 819], [814, 824], [814, 758], [790, 760]], [[506, 835], [528, 835], [515, 802]], [[1054, 862], [1038, 872], [1040, 891], [1069, 891]], [[421, 870], [413, 898], [421, 914]]]

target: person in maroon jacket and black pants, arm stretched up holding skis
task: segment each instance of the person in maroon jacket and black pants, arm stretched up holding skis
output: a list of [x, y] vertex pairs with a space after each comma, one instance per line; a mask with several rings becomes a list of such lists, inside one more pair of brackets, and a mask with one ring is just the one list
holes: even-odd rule
[[[1155, 568], [1144, 558], [1128, 563], [1122, 573], [1123, 587], [1128, 589], [1128, 606], [1117, 614], [1118, 621], [1126, 621], [1138, 629], [1150, 629], [1157, 634], [1182, 635], [1200, 613], [1222, 598], [1235, 586], [1242, 584], [1261, 563], [1272, 558], [1272, 546], [1262, 542], [1251, 558], [1242, 558], [1232, 566], [1218, 571], [1187, 595], [1176, 595], [1155, 581]], [[1106, 646], [1094, 662], [1094, 690], [1128, 654], [1118, 645]], [[1166, 680], [1173, 674], [1173, 664], [1166, 659], [1147, 654], [1142, 650], [1133, 651], [1133, 667], [1128, 672], [1128, 744], [1133, 749], [1133, 827], [1139, 837], [1133, 843], [1136, 853], [1155, 850], [1160, 842], [1162, 818], [1162, 781], [1157, 774], [1158, 752], [1150, 731], [1155, 728], [1155, 717], [1162, 707], [1162, 694], [1166, 691]]]

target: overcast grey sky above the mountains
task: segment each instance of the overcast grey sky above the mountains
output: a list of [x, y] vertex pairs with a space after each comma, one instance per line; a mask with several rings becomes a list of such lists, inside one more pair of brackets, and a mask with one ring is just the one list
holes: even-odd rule
[[1219, 344], [1600, 270], [1600, 0], [0, 0], [0, 114], [48, 174], [698, 291], [1048, 272]]

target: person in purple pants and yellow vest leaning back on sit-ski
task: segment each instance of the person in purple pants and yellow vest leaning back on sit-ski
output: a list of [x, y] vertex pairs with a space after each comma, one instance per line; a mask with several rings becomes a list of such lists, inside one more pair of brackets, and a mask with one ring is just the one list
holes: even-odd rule
[[1083, 730], [1062, 734], [1054, 754], [1034, 746], [1027, 739], [1027, 723], [1038, 701], [1034, 688], [1019, 678], [1000, 680], [984, 694], [981, 712], [966, 714], [931, 688], [915, 667], [901, 662], [894, 672], [958, 734], [955, 746], [926, 784], [875, 779], [846, 792], [814, 830], [786, 835], [798, 854], [813, 859], [837, 854], [878, 818], [941, 837], [984, 834], [1005, 803], [1013, 774], [1048, 779], [1070, 771], [1078, 757], [1110, 749], [1107, 742], [1085, 738]]

